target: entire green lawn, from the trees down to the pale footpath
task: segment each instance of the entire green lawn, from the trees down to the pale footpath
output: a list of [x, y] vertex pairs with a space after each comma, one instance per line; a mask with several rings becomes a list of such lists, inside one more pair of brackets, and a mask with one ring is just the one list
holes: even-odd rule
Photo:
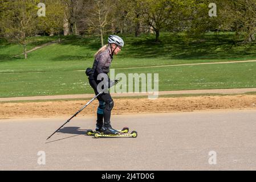
[[[115, 56], [111, 68], [154, 65], [210, 63], [254, 60], [256, 46], [235, 46], [233, 33], [206, 34], [200, 39], [162, 33], [160, 43], [154, 35], [122, 36], [125, 47]], [[31, 38], [29, 48], [56, 40], [56, 37]], [[98, 38], [68, 36], [29, 53], [29, 59], [13, 56], [22, 47], [0, 41], [0, 97], [43, 96], [92, 93], [84, 72], [91, 67], [100, 47]], [[159, 90], [253, 88], [256, 87], [256, 63], [232, 63], [116, 69], [116, 73], [159, 73]]]

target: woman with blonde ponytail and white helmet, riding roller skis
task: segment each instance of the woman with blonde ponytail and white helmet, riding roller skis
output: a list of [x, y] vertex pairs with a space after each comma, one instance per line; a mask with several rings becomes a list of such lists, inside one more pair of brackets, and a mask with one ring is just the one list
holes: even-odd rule
[[[113, 55], [117, 55], [123, 46], [123, 39], [116, 35], [110, 35], [108, 37], [108, 44], [101, 47], [99, 51], [95, 53], [94, 65], [89, 76], [89, 83], [96, 95], [99, 93], [97, 85], [101, 82], [101, 80], [97, 80], [97, 76], [101, 73], [107, 74], [109, 72]], [[108, 81], [110, 82], [109, 78]], [[111, 110], [114, 106], [111, 95], [109, 93], [100, 94], [100, 96], [97, 97], [97, 100], [99, 101], [99, 107], [97, 108], [96, 131], [103, 132], [104, 134], [119, 134], [119, 131], [111, 127], [110, 117]]]

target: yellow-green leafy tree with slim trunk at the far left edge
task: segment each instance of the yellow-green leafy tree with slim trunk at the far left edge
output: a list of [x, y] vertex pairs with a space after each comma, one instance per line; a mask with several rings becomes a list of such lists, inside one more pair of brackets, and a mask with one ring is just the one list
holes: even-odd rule
[[1, 26], [3, 35], [10, 42], [23, 46], [27, 59], [27, 38], [36, 34], [38, 0], [4, 1]]

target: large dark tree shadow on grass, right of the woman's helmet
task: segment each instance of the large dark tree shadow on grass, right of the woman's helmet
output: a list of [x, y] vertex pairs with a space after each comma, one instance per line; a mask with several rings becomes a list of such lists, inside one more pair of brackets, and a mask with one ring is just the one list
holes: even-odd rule
[[127, 50], [121, 55], [136, 58], [161, 58], [161, 59], [239, 59], [256, 56], [254, 44], [243, 45], [241, 40], [234, 42], [230, 34], [206, 34], [201, 38], [186, 38], [184, 35], [164, 34], [161, 42], [156, 43], [153, 37], [134, 38], [127, 43]]

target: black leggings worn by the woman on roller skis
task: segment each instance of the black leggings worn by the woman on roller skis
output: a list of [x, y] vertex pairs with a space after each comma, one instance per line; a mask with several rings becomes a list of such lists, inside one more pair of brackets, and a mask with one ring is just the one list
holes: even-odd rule
[[[94, 89], [95, 94], [96, 95], [99, 94], [99, 92], [97, 92], [97, 82], [95, 80], [89, 79], [89, 83], [91, 87]], [[113, 106], [114, 106], [114, 102], [112, 100], [111, 95], [109, 93], [100, 94], [100, 96], [97, 97], [97, 100], [99, 101], [99, 107], [97, 109], [97, 117], [98, 117], [97, 121], [101, 120], [99, 118], [99, 115], [103, 114], [104, 122], [110, 122], [111, 110], [113, 109]], [[103, 113], [101, 113], [102, 109], [103, 109]]]

